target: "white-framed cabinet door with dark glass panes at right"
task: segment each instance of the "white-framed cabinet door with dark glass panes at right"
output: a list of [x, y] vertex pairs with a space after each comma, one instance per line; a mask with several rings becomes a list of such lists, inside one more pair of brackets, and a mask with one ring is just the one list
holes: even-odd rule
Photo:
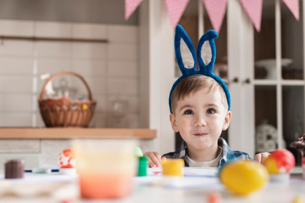
[[[251, 83], [254, 86], [256, 151], [261, 151], [260, 147], [269, 151], [287, 148], [296, 156], [297, 164], [300, 164], [300, 154], [290, 149], [289, 144], [305, 132], [305, 4], [303, 0], [299, 4], [300, 20], [297, 21], [283, 1], [264, 1], [262, 29], [260, 33], [254, 32], [254, 80]], [[276, 129], [275, 142], [266, 122]], [[262, 126], [265, 130], [259, 132]]]

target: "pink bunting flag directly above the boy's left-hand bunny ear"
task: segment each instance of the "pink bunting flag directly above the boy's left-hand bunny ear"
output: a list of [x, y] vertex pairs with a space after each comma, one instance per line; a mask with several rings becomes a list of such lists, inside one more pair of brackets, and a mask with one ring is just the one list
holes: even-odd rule
[[189, 1], [190, 0], [165, 0], [166, 8], [169, 13], [173, 29], [178, 24]]

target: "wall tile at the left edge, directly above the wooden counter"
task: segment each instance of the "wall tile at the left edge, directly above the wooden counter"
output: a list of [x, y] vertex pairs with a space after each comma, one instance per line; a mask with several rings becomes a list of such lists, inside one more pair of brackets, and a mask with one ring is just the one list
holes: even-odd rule
[[0, 127], [30, 127], [32, 125], [31, 122], [31, 112], [0, 112]]

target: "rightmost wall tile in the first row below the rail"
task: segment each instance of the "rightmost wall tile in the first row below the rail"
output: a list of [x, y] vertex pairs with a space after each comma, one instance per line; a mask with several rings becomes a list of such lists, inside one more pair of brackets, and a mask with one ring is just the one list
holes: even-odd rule
[[108, 45], [108, 59], [120, 60], [137, 60], [137, 45], [136, 44], [114, 44]]

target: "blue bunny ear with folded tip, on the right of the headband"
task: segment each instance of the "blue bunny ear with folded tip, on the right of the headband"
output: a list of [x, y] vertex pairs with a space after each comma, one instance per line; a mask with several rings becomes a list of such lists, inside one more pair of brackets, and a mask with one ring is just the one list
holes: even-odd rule
[[216, 48], [214, 39], [218, 37], [218, 34], [209, 30], [200, 38], [197, 47], [197, 58], [199, 69], [203, 71], [205, 75], [212, 73], [215, 57]]

